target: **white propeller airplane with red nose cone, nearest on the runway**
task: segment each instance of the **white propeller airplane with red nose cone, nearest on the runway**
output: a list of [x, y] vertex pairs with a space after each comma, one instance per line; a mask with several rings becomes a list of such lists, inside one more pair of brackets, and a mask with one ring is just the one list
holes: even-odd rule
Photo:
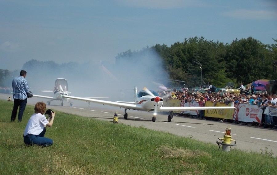
[[128, 118], [128, 114], [126, 113], [127, 109], [139, 110], [139, 111], [154, 111], [152, 121], [156, 121], [157, 112], [160, 111], [171, 111], [171, 115], [168, 115], [167, 121], [171, 122], [173, 118], [173, 111], [195, 111], [195, 110], [207, 110], [207, 109], [234, 109], [234, 105], [230, 107], [163, 107], [163, 101], [165, 98], [160, 97], [159, 94], [155, 91], [150, 91], [146, 87], [143, 91], [137, 92], [137, 88], [134, 87], [134, 102], [112, 102], [105, 100], [97, 100], [97, 99], [88, 99], [81, 97], [74, 97], [69, 95], [62, 95], [62, 98], [69, 99], [77, 99], [82, 101], [89, 101], [94, 103], [100, 103], [103, 105], [110, 105], [116, 107], [125, 108], [124, 111], [124, 119]]

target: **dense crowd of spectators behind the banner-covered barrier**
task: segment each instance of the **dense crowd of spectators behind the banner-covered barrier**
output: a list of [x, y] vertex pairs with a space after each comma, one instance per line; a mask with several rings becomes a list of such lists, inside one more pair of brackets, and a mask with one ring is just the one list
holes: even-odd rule
[[[242, 85], [242, 84], [241, 84]], [[243, 87], [243, 91], [240, 93], [235, 92], [224, 92], [223, 90], [211, 91], [207, 89], [206, 91], [195, 91], [194, 89], [189, 90], [188, 88], [183, 88], [182, 90], [173, 89], [172, 91], [161, 91], [159, 92], [161, 96], [167, 96], [168, 99], [178, 99], [181, 100], [181, 105], [188, 102], [197, 102], [199, 106], [205, 106], [207, 101], [221, 104], [229, 104], [233, 102], [234, 104], [245, 103], [251, 105], [258, 105], [265, 110], [267, 106], [277, 107], [277, 95], [273, 93], [268, 93], [267, 91], [256, 91], [255, 87]], [[181, 114], [182, 115], [182, 114]], [[204, 111], [199, 111], [197, 116], [199, 119], [209, 119], [204, 117]], [[224, 121], [222, 119], [218, 119]], [[277, 120], [277, 117], [276, 117]], [[262, 117], [262, 125], [264, 123], [264, 115]], [[239, 122], [239, 121], [233, 121]], [[277, 125], [277, 121], [275, 121]], [[257, 124], [258, 125], [258, 124]]]

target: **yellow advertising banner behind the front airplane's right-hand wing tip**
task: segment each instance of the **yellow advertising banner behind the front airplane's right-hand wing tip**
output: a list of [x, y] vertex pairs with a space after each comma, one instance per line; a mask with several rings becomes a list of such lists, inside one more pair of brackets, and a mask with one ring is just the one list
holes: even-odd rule
[[[207, 101], [205, 106], [214, 106], [214, 103]], [[228, 105], [216, 103], [215, 106], [231, 106], [231, 103]], [[213, 109], [213, 110], [205, 110], [205, 117], [215, 117], [221, 119], [233, 119], [234, 110], [233, 109]]]

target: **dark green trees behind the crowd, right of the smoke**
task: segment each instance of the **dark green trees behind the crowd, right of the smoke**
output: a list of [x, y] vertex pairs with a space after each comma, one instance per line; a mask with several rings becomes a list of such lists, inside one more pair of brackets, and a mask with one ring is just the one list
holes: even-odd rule
[[235, 39], [230, 44], [191, 37], [170, 47], [157, 44], [140, 51], [122, 52], [116, 59], [128, 59], [149, 49], [159, 54], [170, 79], [183, 80], [191, 87], [199, 87], [201, 80], [201, 68], [194, 61], [202, 64], [203, 83], [211, 82], [217, 87], [224, 87], [228, 82], [238, 85], [277, 78], [277, 44], [263, 44], [252, 37]]

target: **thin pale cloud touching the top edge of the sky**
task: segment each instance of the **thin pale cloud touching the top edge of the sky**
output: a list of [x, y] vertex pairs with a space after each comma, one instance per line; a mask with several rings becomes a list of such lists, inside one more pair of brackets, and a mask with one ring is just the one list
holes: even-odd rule
[[200, 5], [198, 0], [119, 0], [118, 2], [126, 6], [150, 9], [174, 9]]

